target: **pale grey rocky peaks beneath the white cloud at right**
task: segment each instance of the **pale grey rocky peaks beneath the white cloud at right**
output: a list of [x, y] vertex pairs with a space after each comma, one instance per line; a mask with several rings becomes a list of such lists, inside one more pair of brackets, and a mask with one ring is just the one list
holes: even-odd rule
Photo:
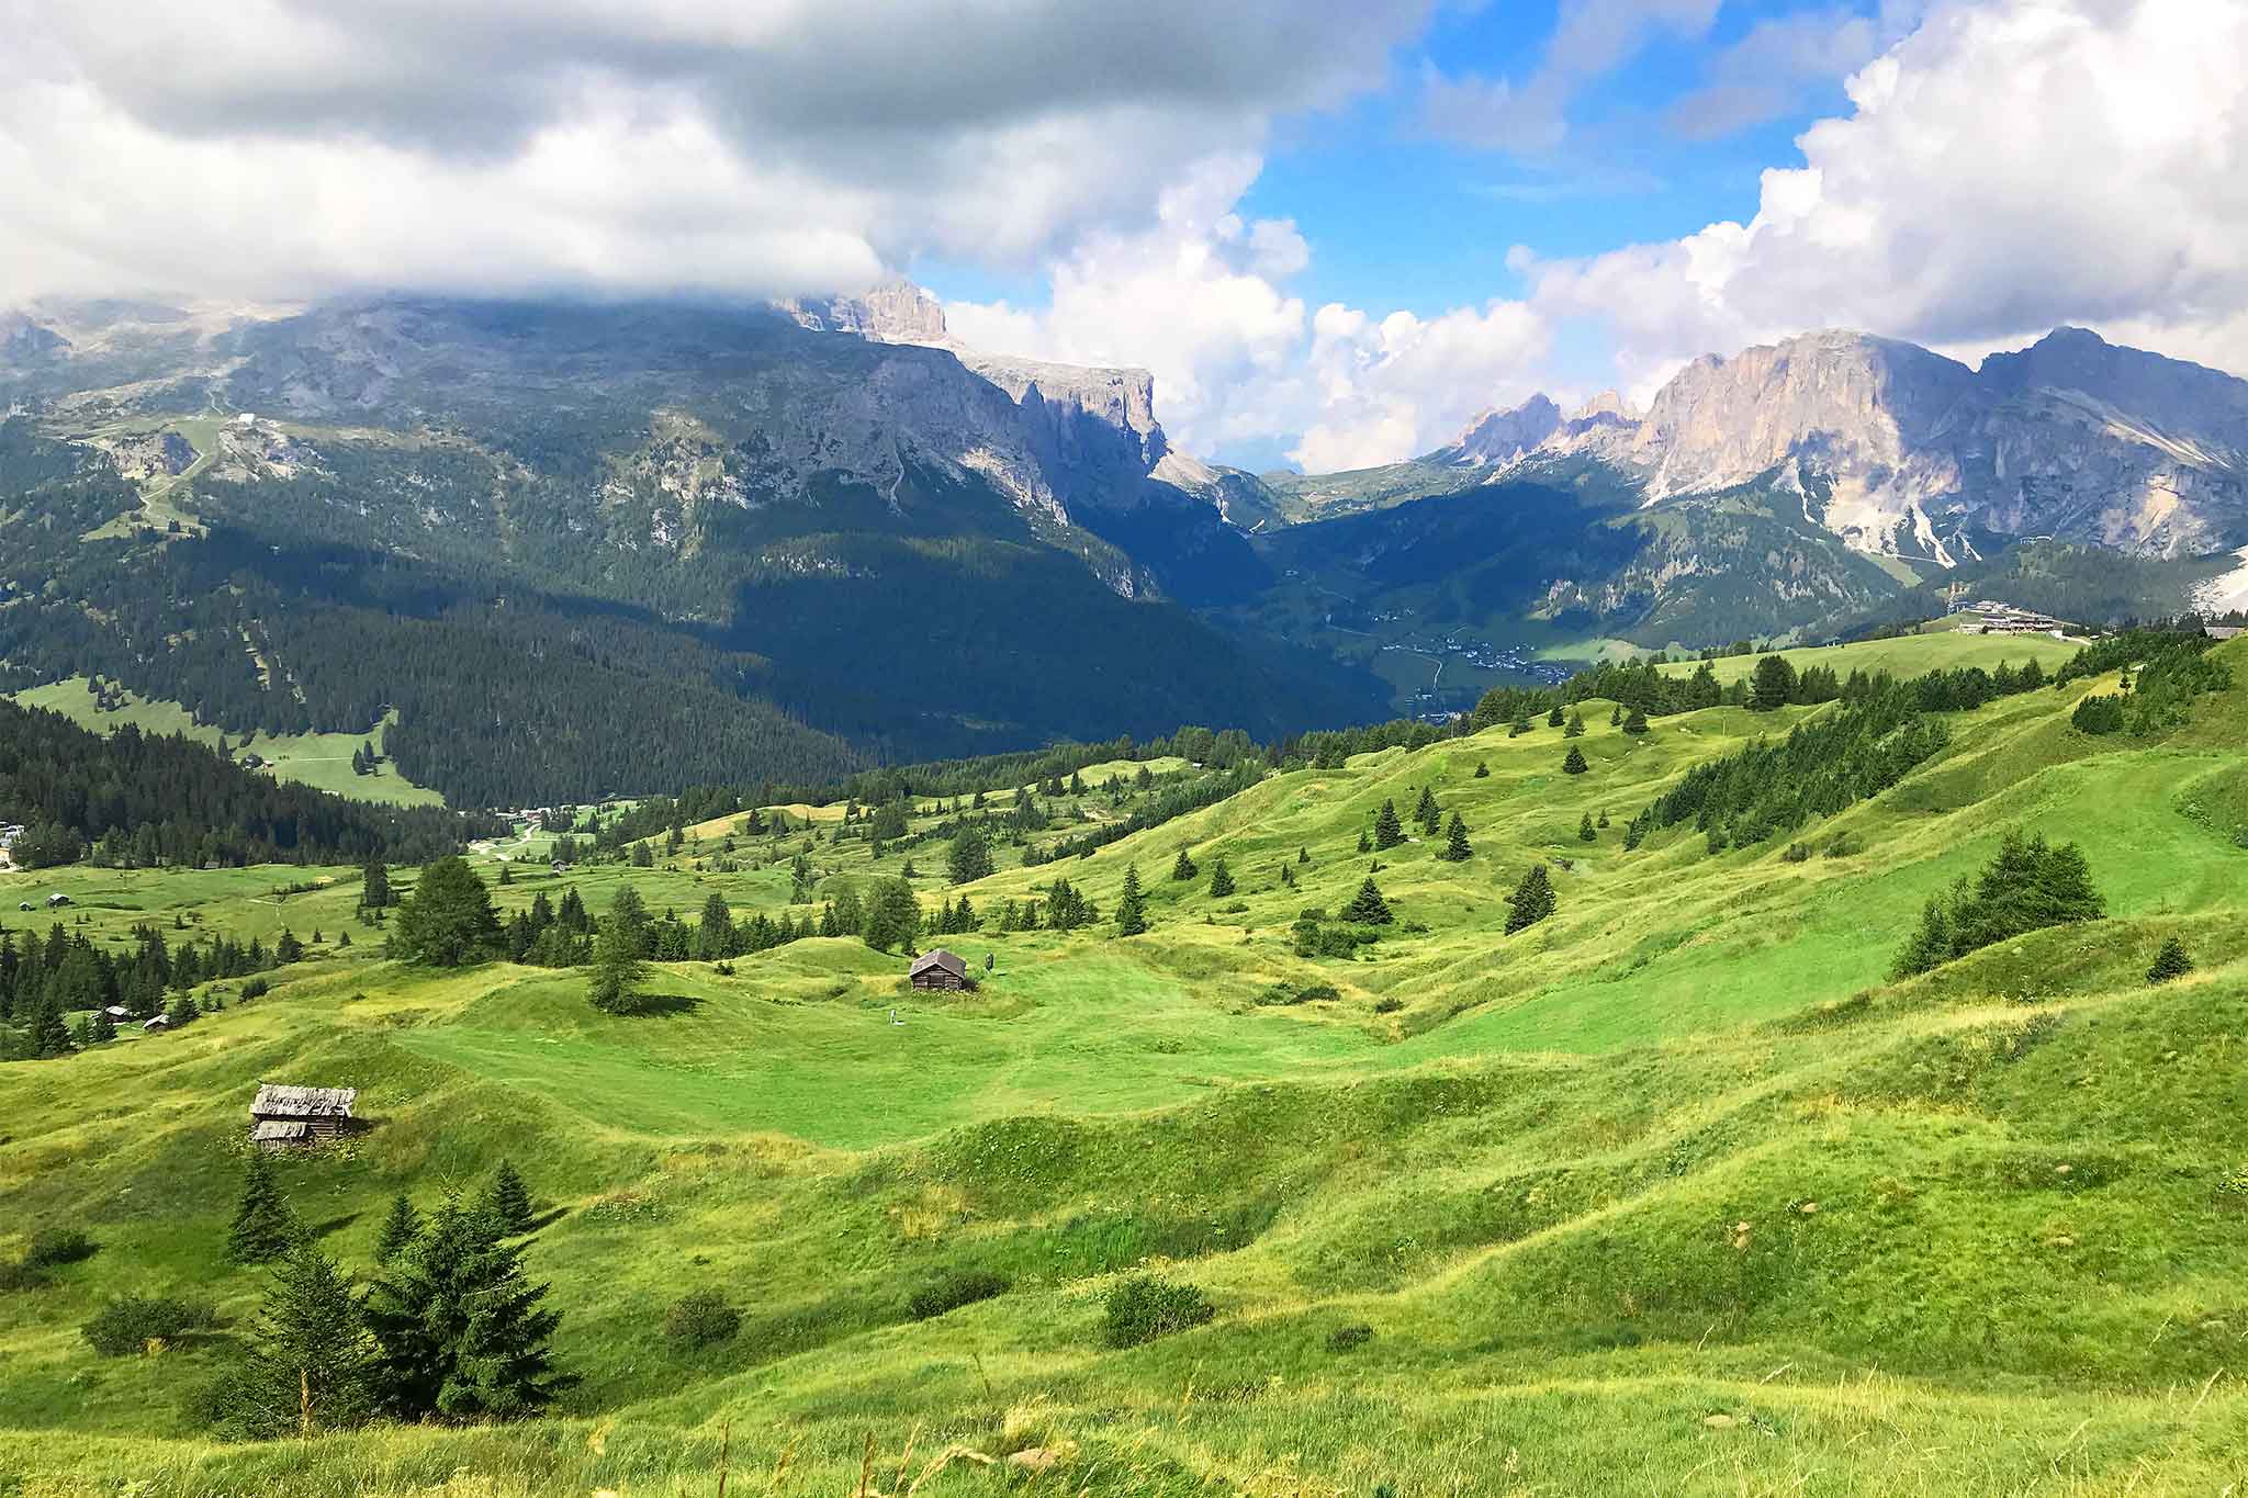
[[2079, 328], [1980, 371], [1807, 332], [1695, 359], [1643, 418], [1601, 400], [1515, 454], [1481, 438], [1499, 422], [1432, 456], [1504, 469], [1589, 454], [1634, 474], [1650, 505], [1769, 476], [1852, 548], [1945, 566], [1987, 532], [2158, 557], [2248, 539], [2248, 382]]

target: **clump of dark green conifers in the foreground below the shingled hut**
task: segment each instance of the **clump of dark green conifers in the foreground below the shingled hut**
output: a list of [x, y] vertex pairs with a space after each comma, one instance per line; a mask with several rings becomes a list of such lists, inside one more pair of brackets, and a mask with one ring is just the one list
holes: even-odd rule
[[506, 1163], [479, 1197], [427, 1217], [400, 1195], [362, 1287], [252, 1154], [227, 1253], [272, 1264], [272, 1278], [234, 1365], [200, 1399], [205, 1417], [227, 1437], [277, 1440], [546, 1410], [575, 1377], [553, 1363], [549, 1287], [524, 1271], [531, 1226], [531, 1193]]

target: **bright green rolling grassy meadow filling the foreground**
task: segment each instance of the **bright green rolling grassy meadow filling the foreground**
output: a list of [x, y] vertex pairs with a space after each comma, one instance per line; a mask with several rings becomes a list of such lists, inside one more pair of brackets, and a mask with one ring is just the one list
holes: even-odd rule
[[[351, 871], [4, 878], [70, 892], [97, 939], [178, 916], [326, 941], [180, 1033], [0, 1067], [0, 1253], [54, 1224], [101, 1240], [0, 1291], [0, 1491], [708, 1494], [724, 1460], [751, 1491], [901, 1494], [953, 1446], [1059, 1451], [1036, 1485], [1090, 1494], [2221, 1491], [2248, 1471], [2248, 649], [2223, 658], [2232, 689], [2163, 741], [2068, 725], [2113, 678], [1951, 714], [1951, 746], [1814, 824], [1803, 862], [1785, 838], [1621, 833], [1686, 768], [1832, 705], [1646, 739], [1587, 707], [1576, 777], [1553, 728], [1275, 775], [1093, 858], [1000, 849], [967, 889], [987, 916], [1057, 874], [1106, 912], [1137, 867], [1153, 930], [926, 937], [994, 957], [964, 997], [807, 939], [731, 975], [665, 963], [663, 1013], [618, 1020], [582, 972], [382, 961]], [[1128, 811], [1086, 779], [1063, 806]], [[1475, 856], [1380, 853], [1398, 925], [1297, 957], [1297, 912], [1349, 901], [1360, 831], [1421, 786]], [[2109, 919], [1888, 981], [1927, 896], [2007, 831], [2082, 842]], [[1180, 849], [1196, 880], [1167, 878]], [[877, 865], [791, 820], [495, 896], [571, 883], [600, 910], [629, 880], [659, 912], [719, 889], [778, 914], [796, 853], [823, 896], [906, 858], [924, 907], [953, 894], [942, 844]], [[1558, 914], [1506, 937], [1533, 862]], [[2199, 968], [2149, 988], [2172, 934]], [[427, 1206], [513, 1157], [584, 1374], [558, 1417], [310, 1446], [184, 1419], [261, 1287], [218, 1255], [259, 1080], [362, 1089], [375, 1127], [283, 1163], [357, 1269], [393, 1190]], [[1102, 1296], [1142, 1264], [1218, 1316], [1104, 1348]], [[946, 1271], [1009, 1291], [915, 1321]], [[726, 1291], [740, 1336], [668, 1348], [690, 1289]], [[76, 1327], [126, 1291], [209, 1296], [220, 1330], [99, 1359]], [[955, 1458], [922, 1491], [1025, 1485]]]

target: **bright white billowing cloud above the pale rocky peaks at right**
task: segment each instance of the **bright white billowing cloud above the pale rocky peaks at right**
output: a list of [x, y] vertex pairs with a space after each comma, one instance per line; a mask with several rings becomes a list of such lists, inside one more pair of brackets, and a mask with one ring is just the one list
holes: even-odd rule
[[1816, 326], [1987, 350], [2077, 321], [2248, 368], [2244, 56], [2237, 4], [1947, 0], [1747, 225], [1529, 263], [1531, 301], [1607, 326], [1641, 391]]

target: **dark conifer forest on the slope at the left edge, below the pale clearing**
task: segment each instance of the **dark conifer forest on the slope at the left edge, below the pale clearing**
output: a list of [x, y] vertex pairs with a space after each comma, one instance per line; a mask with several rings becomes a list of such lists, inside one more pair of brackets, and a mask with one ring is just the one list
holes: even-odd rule
[[25, 867], [72, 862], [88, 847], [94, 862], [144, 869], [432, 858], [497, 831], [434, 806], [369, 806], [252, 775], [205, 743], [135, 725], [92, 734], [9, 701], [0, 701], [0, 820], [25, 824], [13, 849]]

